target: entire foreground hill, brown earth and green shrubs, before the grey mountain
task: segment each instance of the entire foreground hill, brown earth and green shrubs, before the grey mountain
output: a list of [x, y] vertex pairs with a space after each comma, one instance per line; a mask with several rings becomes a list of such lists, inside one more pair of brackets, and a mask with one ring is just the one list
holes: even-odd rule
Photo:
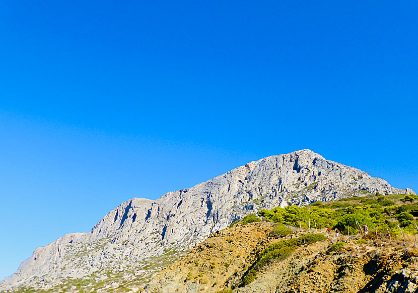
[[[287, 213], [272, 219], [275, 223], [245, 224], [260, 221], [250, 215], [163, 269], [144, 291], [417, 292], [417, 211], [416, 196], [368, 194], [302, 208], [275, 208], [270, 212]], [[399, 217], [405, 213], [413, 219]], [[283, 223], [293, 222], [292, 218], [297, 223], [286, 227]], [[367, 223], [371, 233], [363, 235], [347, 219]], [[316, 220], [318, 229], [313, 225], [309, 229], [303, 222], [308, 220]], [[305, 224], [302, 228], [300, 222]], [[319, 223], [326, 225], [320, 228]], [[338, 237], [324, 228], [341, 223], [347, 226], [338, 228]]]

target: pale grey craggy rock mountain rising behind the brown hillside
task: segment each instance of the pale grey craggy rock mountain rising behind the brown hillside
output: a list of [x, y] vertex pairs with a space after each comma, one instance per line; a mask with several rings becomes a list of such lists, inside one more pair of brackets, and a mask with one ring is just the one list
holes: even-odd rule
[[48, 288], [67, 277], [105, 278], [108, 271], [147, 275], [260, 209], [375, 192], [414, 193], [310, 150], [266, 157], [156, 201], [126, 201], [89, 233], [67, 234], [36, 248], [16, 273], [0, 282], [0, 290]]

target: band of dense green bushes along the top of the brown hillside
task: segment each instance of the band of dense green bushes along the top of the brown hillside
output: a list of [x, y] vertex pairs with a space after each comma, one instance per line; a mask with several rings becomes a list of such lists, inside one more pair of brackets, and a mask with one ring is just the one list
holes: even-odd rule
[[266, 221], [301, 228], [329, 227], [342, 234], [363, 234], [363, 225], [367, 225], [369, 238], [387, 235], [387, 231], [400, 235], [398, 226], [404, 233], [414, 234], [418, 231], [418, 196], [396, 194], [393, 197], [376, 193], [330, 203], [316, 202], [306, 207], [277, 207], [261, 210], [258, 215]]

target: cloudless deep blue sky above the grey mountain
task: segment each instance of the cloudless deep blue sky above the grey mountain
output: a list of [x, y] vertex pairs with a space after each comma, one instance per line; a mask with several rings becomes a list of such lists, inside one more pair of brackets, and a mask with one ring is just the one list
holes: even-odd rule
[[309, 148], [418, 191], [416, 1], [4, 1], [0, 279], [248, 161]]

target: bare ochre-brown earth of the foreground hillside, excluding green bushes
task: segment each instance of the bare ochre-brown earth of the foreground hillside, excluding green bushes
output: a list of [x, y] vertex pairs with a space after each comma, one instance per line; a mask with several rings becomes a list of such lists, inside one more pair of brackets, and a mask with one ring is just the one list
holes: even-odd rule
[[[341, 221], [344, 218], [338, 216], [341, 210], [350, 207], [370, 210], [369, 205], [363, 205], [362, 201], [370, 202], [378, 198], [370, 194], [366, 198], [330, 202], [327, 208], [331, 208], [334, 216]], [[385, 201], [386, 205], [392, 202], [392, 207], [410, 209], [399, 201], [399, 197], [389, 197]], [[340, 203], [346, 207], [335, 208]], [[413, 205], [413, 209], [415, 207], [418, 205]], [[312, 220], [316, 218], [315, 213], [311, 216]], [[396, 215], [384, 217], [394, 220]], [[374, 218], [374, 223], [383, 226], [379, 224], [376, 228], [377, 238], [376, 234], [370, 233], [366, 240], [360, 231], [337, 238], [335, 233], [327, 234], [325, 228], [288, 226], [288, 230], [273, 222], [238, 223], [211, 235], [184, 258], [161, 271], [145, 286], [145, 292], [415, 292], [418, 289], [417, 231], [404, 235], [404, 245], [401, 235], [389, 230], [390, 243], [388, 234], [383, 233], [384, 221], [378, 218]], [[413, 222], [416, 223], [416, 218]], [[393, 223], [395, 226], [402, 225], [396, 221]], [[403, 233], [404, 228], [401, 228]], [[297, 246], [283, 260], [277, 255], [275, 259], [270, 258], [254, 278], [246, 281], [261, 262], [263, 250], [309, 233], [320, 234], [324, 239]]]

